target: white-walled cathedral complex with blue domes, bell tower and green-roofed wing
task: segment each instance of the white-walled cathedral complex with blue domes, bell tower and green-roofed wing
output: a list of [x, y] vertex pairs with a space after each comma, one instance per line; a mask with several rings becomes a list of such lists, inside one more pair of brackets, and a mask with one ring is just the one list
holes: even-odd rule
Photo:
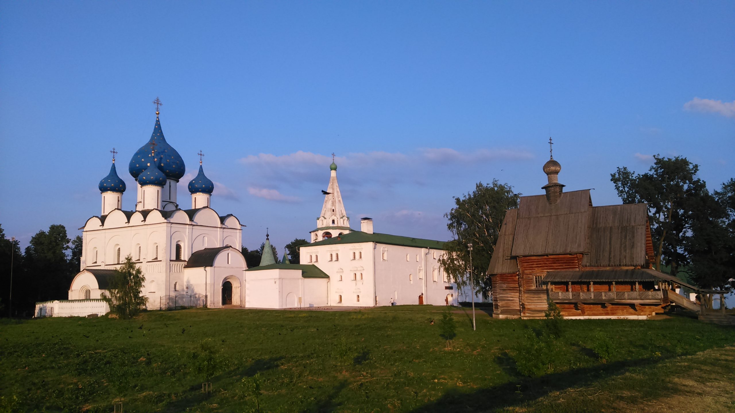
[[266, 237], [262, 262], [248, 268], [240, 252], [243, 225], [212, 209], [215, 188], [201, 163], [188, 185], [190, 209], [182, 209], [176, 184], [184, 160], [166, 142], [157, 110], [150, 140], [128, 165], [137, 183], [135, 209], [123, 209], [126, 185], [113, 157], [99, 183], [101, 213], [82, 228], [81, 267], [68, 300], [38, 304], [37, 315], [88, 314], [128, 255], [146, 278], [148, 309], [457, 304], [456, 284], [439, 261], [443, 242], [379, 234], [370, 218], [362, 218], [359, 231], [351, 229], [334, 162], [311, 242], [299, 248], [301, 262], [292, 264], [284, 254], [276, 264]]

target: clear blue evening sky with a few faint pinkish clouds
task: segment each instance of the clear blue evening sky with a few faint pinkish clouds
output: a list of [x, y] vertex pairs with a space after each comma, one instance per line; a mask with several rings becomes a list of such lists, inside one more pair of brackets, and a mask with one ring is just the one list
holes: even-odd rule
[[331, 152], [352, 226], [448, 239], [453, 196], [478, 181], [616, 204], [609, 174], [651, 154], [735, 176], [731, 1], [74, 1], [0, 3], [0, 223], [21, 243], [98, 215], [110, 149], [126, 165], [162, 129], [187, 165], [204, 151], [212, 206], [314, 229]]

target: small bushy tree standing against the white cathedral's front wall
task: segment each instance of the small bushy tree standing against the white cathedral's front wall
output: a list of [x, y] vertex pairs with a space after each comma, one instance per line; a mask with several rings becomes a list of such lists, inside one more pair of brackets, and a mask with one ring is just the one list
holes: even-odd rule
[[148, 302], [148, 297], [140, 295], [146, 277], [140, 270], [133, 257], [125, 257], [123, 265], [115, 270], [115, 276], [110, 283], [110, 293], [102, 293], [102, 298], [110, 305], [110, 312], [120, 318], [135, 317], [143, 310]]

